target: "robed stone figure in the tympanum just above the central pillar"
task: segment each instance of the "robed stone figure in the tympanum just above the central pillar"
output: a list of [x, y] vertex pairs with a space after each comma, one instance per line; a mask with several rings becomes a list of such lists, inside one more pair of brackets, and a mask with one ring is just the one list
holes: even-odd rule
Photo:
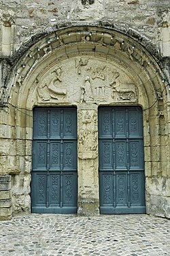
[[80, 103], [83, 101], [90, 102], [93, 101], [92, 88], [90, 84], [89, 76], [86, 76], [84, 84], [81, 86], [82, 95], [80, 98]]

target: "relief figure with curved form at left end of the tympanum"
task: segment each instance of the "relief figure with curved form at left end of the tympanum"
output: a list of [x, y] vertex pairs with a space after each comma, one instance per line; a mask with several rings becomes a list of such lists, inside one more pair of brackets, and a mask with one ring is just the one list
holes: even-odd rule
[[45, 82], [42, 82], [37, 88], [37, 98], [38, 101], [50, 101], [50, 99], [63, 99], [67, 95], [67, 90], [63, 88], [58, 88], [58, 83], [61, 83], [61, 67], [54, 69], [50, 75], [53, 77], [48, 82], [48, 78]]

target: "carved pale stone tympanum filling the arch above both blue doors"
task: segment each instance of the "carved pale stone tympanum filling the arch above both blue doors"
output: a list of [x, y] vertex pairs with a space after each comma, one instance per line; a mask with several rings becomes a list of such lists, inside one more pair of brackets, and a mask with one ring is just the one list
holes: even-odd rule
[[117, 65], [97, 57], [69, 58], [37, 76], [37, 102], [99, 104], [136, 102], [138, 89]]

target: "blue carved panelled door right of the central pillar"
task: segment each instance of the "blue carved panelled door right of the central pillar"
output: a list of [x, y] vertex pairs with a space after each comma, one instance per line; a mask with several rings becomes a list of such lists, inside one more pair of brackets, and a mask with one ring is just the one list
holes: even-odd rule
[[142, 110], [99, 108], [100, 211], [144, 213]]

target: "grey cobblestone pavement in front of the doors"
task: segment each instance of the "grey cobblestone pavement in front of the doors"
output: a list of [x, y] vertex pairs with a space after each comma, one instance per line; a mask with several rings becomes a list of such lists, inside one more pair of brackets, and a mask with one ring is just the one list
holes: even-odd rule
[[0, 222], [0, 255], [170, 255], [170, 220], [31, 214]]

